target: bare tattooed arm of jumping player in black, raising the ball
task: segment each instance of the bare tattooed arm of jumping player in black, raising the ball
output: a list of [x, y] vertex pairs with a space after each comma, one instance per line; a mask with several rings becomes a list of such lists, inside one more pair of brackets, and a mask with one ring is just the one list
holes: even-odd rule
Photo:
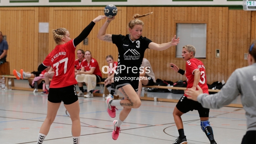
[[112, 35], [110, 34], [106, 34], [106, 30], [108, 28], [108, 25], [110, 23], [110, 21], [114, 20], [115, 17], [113, 18], [108, 18], [108, 20], [103, 24], [103, 26], [100, 28], [99, 33], [97, 35], [97, 37], [105, 42], [111, 42], [112, 43]]

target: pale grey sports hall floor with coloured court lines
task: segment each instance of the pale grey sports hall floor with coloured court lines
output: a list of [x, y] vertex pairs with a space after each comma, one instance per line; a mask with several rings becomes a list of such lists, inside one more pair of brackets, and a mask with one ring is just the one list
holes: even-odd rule
[[[16, 82], [15, 82], [16, 84]], [[171, 93], [148, 93], [148, 96], [180, 97]], [[172, 144], [178, 131], [172, 111], [176, 103], [142, 101], [121, 125], [117, 140], [112, 140], [112, 122], [118, 119], [107, 113], [102, 97], [79, 97], [81, 118], [81, 144]], [[241, 103], [240, 98], [233, 103]], [[40, 126], [47, 113], [47, 95], [30, 91], [0, 90], [0, 144], [35, 144]], [[223, 107], [210, 110], [210, 123], [218, 144], [240, 144], [246, 132], [243, 108]], [[63, 104], [51, 126], [44, 144], [71, 144], [71, 120]], [[189, 144], [209, 143], [200, 128], [197, 111], [182, 116], [185, 135]]]

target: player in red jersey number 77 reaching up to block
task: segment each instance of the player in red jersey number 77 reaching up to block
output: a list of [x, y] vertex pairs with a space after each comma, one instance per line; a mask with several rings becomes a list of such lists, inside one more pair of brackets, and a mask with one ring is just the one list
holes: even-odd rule
[[49, 88], [47, 116], [40, 128], [37, 144], [43, 143], [57, 115], [61, 101], [64, 102], [64, 106], [72, 120], [73, 143], [79, 144], [81, 125], [80, 107], [75, 87], [75, 84], [77, 84], [74, 74], [75, 50], [76, 46], [90, 34], [95, 22], [101, 19], [106, 19], [106, 16], [98, 16], [92, 20], [81, 34], [72, 40], [69, 38], [70, 35], [67, 29], [58, 28], [53, 30], [54, 41], [57, 45], [45, 58], [44, 62], [38, 66], [38, 71], [43, 71], [48, 66], [51, 66], [54, 69], [54, 76]]

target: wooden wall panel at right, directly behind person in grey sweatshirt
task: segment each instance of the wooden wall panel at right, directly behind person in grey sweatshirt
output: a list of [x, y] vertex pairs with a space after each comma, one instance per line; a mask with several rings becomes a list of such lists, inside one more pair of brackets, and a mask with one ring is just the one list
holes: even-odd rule
[[229, 10], [228, 16], [227, 76], [229, 77], [236, 68], [248, 65], [247, 60], [244, 60], [244, 53], [248, 52], [251, 43], [251, 11]]

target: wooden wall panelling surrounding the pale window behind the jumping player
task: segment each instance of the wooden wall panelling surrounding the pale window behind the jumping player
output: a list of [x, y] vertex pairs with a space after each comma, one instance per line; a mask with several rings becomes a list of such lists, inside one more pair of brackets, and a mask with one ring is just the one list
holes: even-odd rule
[[[150, 7], [154, 12], [150, 17], [140, 18], [144, 21], [143, 35], [153, 42], [167, 43], [176, 34], [176, 23], [207, 23], [207, 54], [203, 61], [206, 67], [208, 83], [225, 79], [226, 71], [221, 71], [220, 63], [225, 61], [227, 53], [227, 23], [228, 8], [218, 7]], [[141, 12], [142, 10], [142, 12]], [[144, 11], [143, 11], [144, 10]], [[146, 11], [146, 12], [145, 12]], [[135, 13], [148, 13], [149, 9], [143, 7], [127, 7], [127, 22]], [[166, 13], [168, 16], [166, 17]], [[223, 20], [220, 22], [220, 20]], [[148, 28], [149, 27], [149, 28]], [[224, 39], [224, 40], [223, 40]], [[221, 58], [215, 58], [215, 49], [220, 49]], [[169, 63], [175, 63], [185, 69], [185, 62], [176, 57], [176, 48], [173, 46], [164, 51], [146, 50], [147, 58], [155, 72], [156, 78], [177, 81], [185, 80], [184, 76], [170, 70]], [[221, 63], [222, 64], [222, 63]], [[221, 66], [226, 67], [225, 62]], [[223, 67], [222, 67], [223, 69]]]

